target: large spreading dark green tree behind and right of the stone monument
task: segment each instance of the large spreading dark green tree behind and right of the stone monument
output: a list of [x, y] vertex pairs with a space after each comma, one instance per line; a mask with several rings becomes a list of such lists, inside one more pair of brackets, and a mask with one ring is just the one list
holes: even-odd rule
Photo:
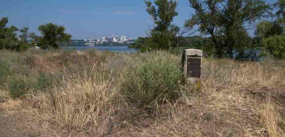
[[[235, 49], [246, 49], [248, 29], [256, 20], [268, 17], [270, 5], [263, 0], [189, 0], [195, 10], [186, 27], [199, 26], [202, 35], [210, 35], [215, 54], [233, 58]], [[242, 39], [243, 38], [243, 39]]]

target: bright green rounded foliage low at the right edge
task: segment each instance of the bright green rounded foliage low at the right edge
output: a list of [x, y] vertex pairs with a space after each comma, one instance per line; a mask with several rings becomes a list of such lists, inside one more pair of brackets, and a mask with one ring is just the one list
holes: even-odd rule
[[285, 58], [285, 36], [275, 35], [262, 40], [262, 45], [274, 58]]

